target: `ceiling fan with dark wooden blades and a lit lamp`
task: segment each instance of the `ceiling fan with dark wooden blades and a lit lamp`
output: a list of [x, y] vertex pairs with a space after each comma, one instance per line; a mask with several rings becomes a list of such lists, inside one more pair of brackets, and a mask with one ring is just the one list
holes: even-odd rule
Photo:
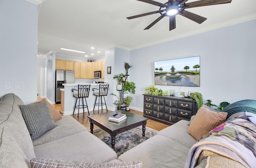
[[217, 5], [217, 4], [226, 4], [230, 3], [232, 0], [199, 0], [196, 2], [186, 2], [188, 0], [168, 0], [168, 2], [162, 4], [160, 2], [156, 2], [154, 0], [138, 0], [141, 2], [146, 2], [148, 4], [160, 6], [159, 10], [153, 11], [153, 12], [148, 12], [144, 14], [139, 14], [135, 16], [130, 16], [127, 17], [127, 19], [134, 19], [134, 18], [139, 18], [142, 16], [147, 16], [150, 14], [156, 14], [160, 13], [161, 16], [159, 16], [154, 22], [152, 22], [148, 27], [146, 27], [144, 30], [150, 29], [154, 24], [156, 24], [159, 20], [164, 18], [165, 16], [169, 16], [169, 31], [173, 30], [176, 28], [176, 19], [175, 16], [177, 14], [180, 14], [181, 16], [184, 16], [190, 20], [193, 20], [194, 22], [197, 22], [201, 24], [204, 22], [207, 18], [204, 18], [202, 16], [199, 16], [197, 14], [194, 14], [192, 12], [188, 12], [185, 9], [187, 8], [195, 8], [195, 7], [200, 7], [200, 6], [209, 6], [209, 5]]

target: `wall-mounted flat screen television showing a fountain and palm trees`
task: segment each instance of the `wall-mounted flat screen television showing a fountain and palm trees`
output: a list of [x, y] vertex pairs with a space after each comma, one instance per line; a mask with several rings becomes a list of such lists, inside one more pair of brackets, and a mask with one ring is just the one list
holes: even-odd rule
[[154, 62], [156, 85], [200, 87], [200, 56]]

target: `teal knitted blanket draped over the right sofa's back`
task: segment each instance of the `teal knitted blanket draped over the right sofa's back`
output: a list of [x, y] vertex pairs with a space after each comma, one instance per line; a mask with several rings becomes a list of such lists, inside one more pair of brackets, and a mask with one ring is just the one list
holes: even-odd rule
[[227, 118], [237, 112], [252, 112], [256, 114], [256, 100], [241, 100], [226, 106], [222, 112], [228, 112]]

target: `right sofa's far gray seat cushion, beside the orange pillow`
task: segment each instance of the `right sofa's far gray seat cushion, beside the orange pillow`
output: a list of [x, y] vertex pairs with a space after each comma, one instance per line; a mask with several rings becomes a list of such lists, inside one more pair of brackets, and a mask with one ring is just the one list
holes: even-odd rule
[[165, 136], [166, 138], [191, 148], [191, 146], [196, 143], [196, 140], [193, 136], [188, 134], [188, 123], [189, 121], [180, 120], [172, 126], [168, 126], [167, 128], [159, 131], [158, 135]]

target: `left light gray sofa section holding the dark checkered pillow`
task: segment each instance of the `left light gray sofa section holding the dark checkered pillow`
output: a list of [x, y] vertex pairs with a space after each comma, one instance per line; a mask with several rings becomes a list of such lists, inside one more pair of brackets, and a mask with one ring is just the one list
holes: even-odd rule
[[32, 141], [15, 94], [0, 99], [0, 167], [27, 168], [33, 158], [108, 162], [116, 152], [88, 132], [71, 116], [57, 120], [57, 126]]

